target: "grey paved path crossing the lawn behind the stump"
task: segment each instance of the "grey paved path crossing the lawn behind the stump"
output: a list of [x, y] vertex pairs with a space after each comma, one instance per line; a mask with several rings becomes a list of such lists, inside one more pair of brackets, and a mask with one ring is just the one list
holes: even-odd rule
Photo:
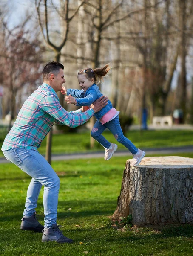
[[[142, 148], [146, 152], [146, 156], [155, 154], [176, 154], [176, 153], [193, 153], [193, 145], [183, 147], [167, 147], [167, 148]], [[116, 151], [114, 157], [130, 156], [128, 151]], [[87, 159], [104, 157], [104, 151], [76, 153], [76, 154], [53, 154], [51, 160], [71, 160], [71, 159]], [[0, 163], [9, 163], [6, 158], [1, 157]]]

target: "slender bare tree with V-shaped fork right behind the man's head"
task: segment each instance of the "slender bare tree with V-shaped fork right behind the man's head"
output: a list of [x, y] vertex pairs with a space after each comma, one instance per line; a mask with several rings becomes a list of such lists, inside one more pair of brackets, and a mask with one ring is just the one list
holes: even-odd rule
[[[57, 7], [54, 5], [52, 0], [35, 0], [36, 9], [37, 9], [37, 17], [38, 22], [40, 26], [40, 30], [45, 42], [45, 45], [51, 49], [54, 52], [54, 60], [60, 61], [61, 56], [61, 50], [65, 46], [68, 33], [70, 29], [70, 23], [77, 14], [79, 8], [85, 3], [86, 0], [82, 0], [77, 9], [73, 12], [73, 14], [70, 15], [70, 8], [69, 8], [69, 0], [60, 0], [60, 6]], [[60, 32], [61, 35], [61, 41], [56, 40], [54, 33], [51, 31], [51, 15], [52, 13], [49, 13], [49, 6], [51, 6], [52, 10], [55, 10], [55, 20], [56, 20], [56, 14], [60, 18], [60, 20], [63, 21], [63, 24], [61, 26], [62, 31]], [[60, 30], [60, 26], [55, 24], [55, 29]], [[52, 39], [51, 39], [52, 38]], [[60, 104], [63, 105], [63, 96], [59, 94]], [[51, 140], [52, 140], [52, 129], [47, 135], [47, 142], [46, 142], [46, 160], [48, 163], [51, 163]]]

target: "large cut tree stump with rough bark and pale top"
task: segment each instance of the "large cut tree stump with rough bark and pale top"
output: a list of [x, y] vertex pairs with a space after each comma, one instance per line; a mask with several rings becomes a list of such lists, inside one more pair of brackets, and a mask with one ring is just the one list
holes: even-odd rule
[[127, 160], [113, 219], [132, 214], [133, 224], [193, 223], [193, 158]]

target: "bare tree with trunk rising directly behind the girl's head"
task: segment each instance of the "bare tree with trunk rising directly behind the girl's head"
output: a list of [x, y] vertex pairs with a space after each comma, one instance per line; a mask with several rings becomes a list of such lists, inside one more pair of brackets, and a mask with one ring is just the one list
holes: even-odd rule
[[[81, 15], [86, 16], [84, 26], [87, 28], [85, 36], [85, 44], [82, 44], [82, 47], [85, 47], [86, 58], [90, 61], [89, 64], [94, 69], [99, 67], [101, 63], [101, 46], [102, 46], [102, 36], [107, 33], [108, 27], [116, 22], [116, 14], [119, 12], [119, 8], [122, 6], [124, 0], [119, 1], [119, 3], [113, 3], [112, 1], [89, 1], [84, 6], [84, 9], [81, 10]], [[79, 56], [80, 57], [80, 56]], [[93, 127], [96, 119], [93, 117], [90, 120], [90, 128]], [[94, 147], [94, 139], [90, 139], [91, 148]]]

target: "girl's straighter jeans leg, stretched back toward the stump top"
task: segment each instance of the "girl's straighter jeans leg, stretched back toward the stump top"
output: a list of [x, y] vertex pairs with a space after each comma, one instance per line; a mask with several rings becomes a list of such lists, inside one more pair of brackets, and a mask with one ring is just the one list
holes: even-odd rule
[[119, 122], [119, 116], [116, 116], [113, 120], [105, 123], [105, 126], [112, 132], [115, 139], [124, 145], [126, 148], [128, 148], [129, 151], [131, 151], [132, 154], [136, 154], [138, 152], [138, 149], [136, 146], [123, 135], [121, 125]]

